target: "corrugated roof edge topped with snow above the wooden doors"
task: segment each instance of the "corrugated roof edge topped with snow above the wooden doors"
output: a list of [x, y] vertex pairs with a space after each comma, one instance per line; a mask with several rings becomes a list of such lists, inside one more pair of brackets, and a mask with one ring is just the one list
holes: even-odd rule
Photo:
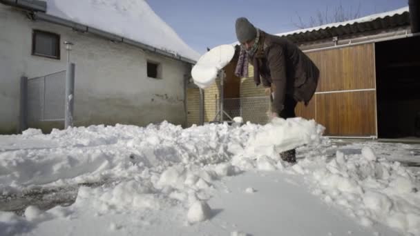
[[287, 39], [295, 42], [314, 41], [341, 35], [408, 25], [410, 25], [410, 13], [407, 6], [389, 12], [371, 14], [350, 21], [329, 23], [323, 26], [283, 32], [276, 35], [287, 37]]

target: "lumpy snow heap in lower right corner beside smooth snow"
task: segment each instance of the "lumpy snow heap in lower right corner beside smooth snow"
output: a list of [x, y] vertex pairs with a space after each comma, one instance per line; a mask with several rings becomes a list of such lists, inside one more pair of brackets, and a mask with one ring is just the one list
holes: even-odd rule
[[[305, 163], [295, 166], [300, 165]], [[381, 222], [402, 232], [420, 234], [419, 180], [399, 162], [376, 157], [372, 148], [365, 146], [361, 155], [337, 152], [325, 168], [313, 173], [296, 172], [308, 174], [316, 182], [314, 194], [341, 206], [361, 224]]]

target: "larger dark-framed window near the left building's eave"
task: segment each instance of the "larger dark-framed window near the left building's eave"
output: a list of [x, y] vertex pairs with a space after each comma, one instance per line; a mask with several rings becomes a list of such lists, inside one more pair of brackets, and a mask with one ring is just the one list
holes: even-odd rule
[[60, 36], [51, 32], [34, 30], [32, 55], [60, 59]]

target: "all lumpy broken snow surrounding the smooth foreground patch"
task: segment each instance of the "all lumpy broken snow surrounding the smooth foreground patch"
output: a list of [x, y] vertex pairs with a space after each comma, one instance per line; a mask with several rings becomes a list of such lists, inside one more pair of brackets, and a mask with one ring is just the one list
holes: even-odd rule
[[[265, 126], [208, 124], [182, 129], [163, 122], [144, 128], [69, 128], [50, 135], [28, 130], [21, 139], [54, 141], [56, 146], [0, 153], [3, 194], [39, 185], [105, 184], [79, 188], [75, 204], [67, 208], [41, 212], [30, 207], [26, 219], [0, 212], [0, 224], [13, 233], [28, 220], [37, 224], [83, 209], [92, 215], [152, 214], [175, 206], [184, 209], [187, 225], [198, 224], [211, 217], [207, 201], [218, 191], [215, 181], [248, 170], [278, 170], [302, 175], [314, 195], [342, 207], [365, 226], [380, 222], [419, 235], [419, 179], [368, 147], [361, 154], [338, 152], [327, 157], [323, 145], [329, 140], [322, 138], [323, 129], [314, 121], [295, 118], [274, 119]], [[290, 148], [305, 150], [305, 158], [294, 166], [278, 155]], [[245, 190], [247, 195], [258, 193], [251, 187]]]

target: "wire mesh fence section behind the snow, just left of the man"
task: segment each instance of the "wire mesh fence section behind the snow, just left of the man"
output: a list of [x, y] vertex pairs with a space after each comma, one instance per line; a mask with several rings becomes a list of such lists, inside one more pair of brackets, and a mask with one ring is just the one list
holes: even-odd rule
[[[216, 110], [219, 110], [220, 99], [216, 101]], [[223, 110], [230, 117], [242, 117], [244, 122], [251, 121], [254, 124], [267, 124], [267, 116], [270, 110], [269, 97], [241, 97], [234, 99], [223, 99]], [[225, 121], [229, 120], [226, 115]]]

